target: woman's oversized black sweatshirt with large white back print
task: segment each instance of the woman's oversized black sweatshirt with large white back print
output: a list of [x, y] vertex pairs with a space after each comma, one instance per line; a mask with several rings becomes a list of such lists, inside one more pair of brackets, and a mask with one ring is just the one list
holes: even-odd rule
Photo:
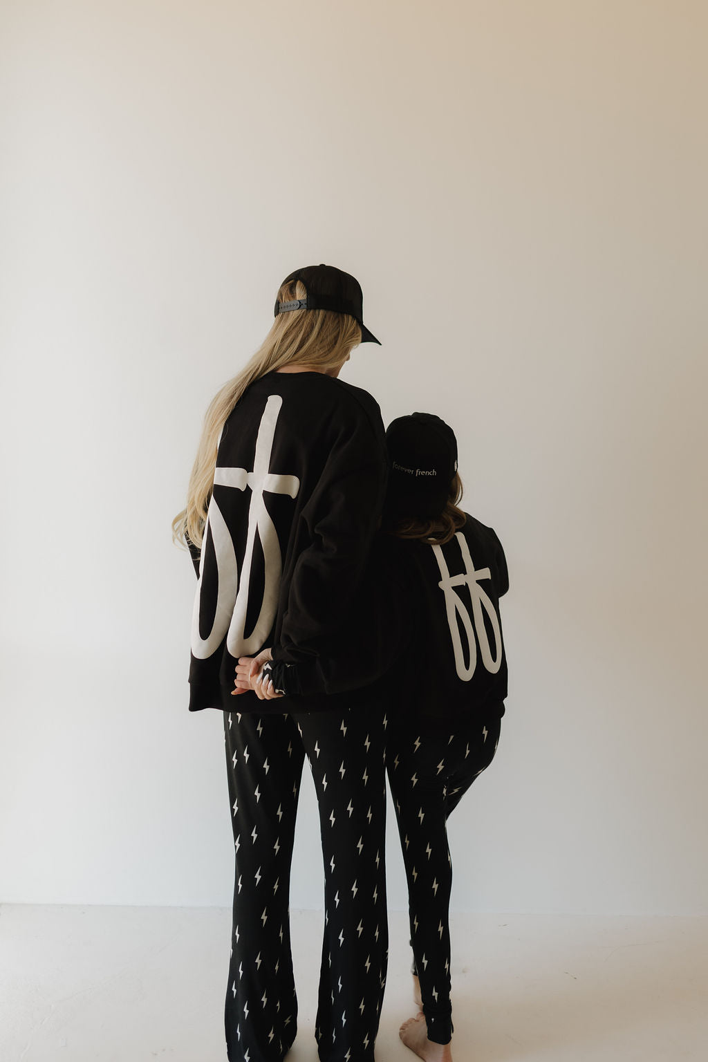
[[[270, 646], [304, 676], [316, 669], [367, 601], [385, 478], [381, 413], [366, 391], [322, 373], [269, 373], [251, 384], [222, 431], [202, 550], [192, 550], [190, 710], [294, 709], [251, 691], [230, 697], [238, 657]], [[327, 663], [297, 709], [353, 703], [340, 691], [366, 680], [346, 672], [342, 683]]]

